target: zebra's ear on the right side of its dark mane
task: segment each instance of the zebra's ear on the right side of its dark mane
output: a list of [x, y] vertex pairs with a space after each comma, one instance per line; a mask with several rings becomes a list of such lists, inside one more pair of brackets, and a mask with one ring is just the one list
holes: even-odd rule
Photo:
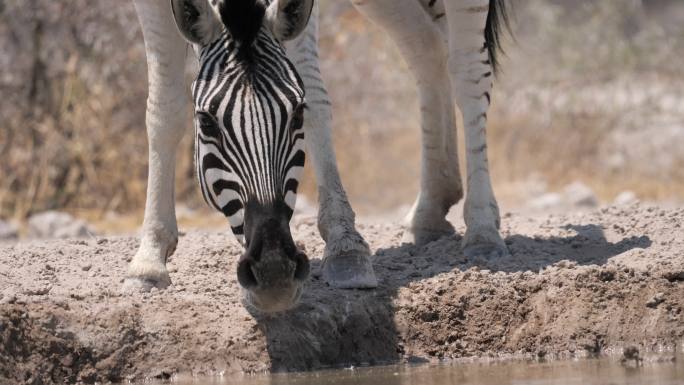
[[266, 10], [266, 22], [279, 40], [297, 37], [311, 17], [314, 0], [274, 0]]

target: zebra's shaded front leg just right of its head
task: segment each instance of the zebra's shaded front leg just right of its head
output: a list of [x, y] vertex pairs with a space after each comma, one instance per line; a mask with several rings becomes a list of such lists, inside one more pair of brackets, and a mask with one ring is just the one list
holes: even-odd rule
[[326, 243], [323, 278], [339, 288], [376, 287], [370, 249], [356, 231], [335, 160], [332, 108], [318, 64], [318, 2], [306, 30], [286, 46], [306, 88], [305, 138], [318, 183], [318, 229]]

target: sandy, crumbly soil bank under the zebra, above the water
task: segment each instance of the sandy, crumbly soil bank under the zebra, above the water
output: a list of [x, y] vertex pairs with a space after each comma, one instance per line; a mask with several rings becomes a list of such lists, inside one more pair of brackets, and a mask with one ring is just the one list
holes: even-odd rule
[[[184, 234], [173, 287], [133, 296], [119, 287], [134, 237], [1, 245], [0, 383], [683, 346], [684, 209], [506, 214], [511, 255], [498, 260], [465, 258], [458, 235], [402, 246], [398, 225], [360, 222], [381, 287], [341, 291], [312, 278], [297, 309], [271, 318], [241, 305], [240, 248], [226, 233]], [[316, 269], [315, 220], [294, 229]]]

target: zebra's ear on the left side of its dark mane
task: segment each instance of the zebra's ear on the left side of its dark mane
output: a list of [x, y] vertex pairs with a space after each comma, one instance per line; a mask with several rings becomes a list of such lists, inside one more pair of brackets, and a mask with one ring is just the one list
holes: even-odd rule
[[211, 43], [221, 31], [207, 0], [171, 0], [171, 10], [178, 31], [190, 43]]

